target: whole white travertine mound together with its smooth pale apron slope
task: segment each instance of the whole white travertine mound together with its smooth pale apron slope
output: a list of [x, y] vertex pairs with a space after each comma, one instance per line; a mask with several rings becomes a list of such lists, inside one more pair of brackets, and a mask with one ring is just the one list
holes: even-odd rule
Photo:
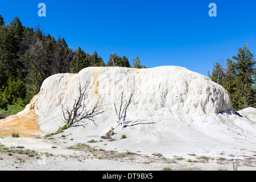
[[[53, 75], [43, 82], [38, 95], [15, 119], [23, 127], [24, 119], [32, 118], [41, 132], [54, 133], [65, 125], [61, 105], [71, 109], [79, 96], [79, 86], [86, 84], [89, 84], [84, 102], [86, 111], [97, 104], [104, 113], [96, 116], [96, 125], [84, 119], [64, 130], [65, 136], [72, 139], [70, 142], [99, 140], [113, 127], [115, 141], [105, 143], [108, 140], [102, 139], [97, 143], [105, 150], [158, 152], [164, 156], [193, 152], [221, 155], [224, 151], [233, 155], [244, 148], [256, 151], [256, 109], [236, 113], [222, 86], [199, 73], [174, 66], [91, 67], [77, 74]], [[119, 108], [122, 93], [123, 101], [133, 94], [124, 128], [117, 126], [114, 107], [115, 104]], [[10, 119], [0, 121], [0, 129], [1, 123], [5, 128]], [[26, 132], [29, 129], [27, 126]], [[120, 139], [122, 134], [127, 138]]]

